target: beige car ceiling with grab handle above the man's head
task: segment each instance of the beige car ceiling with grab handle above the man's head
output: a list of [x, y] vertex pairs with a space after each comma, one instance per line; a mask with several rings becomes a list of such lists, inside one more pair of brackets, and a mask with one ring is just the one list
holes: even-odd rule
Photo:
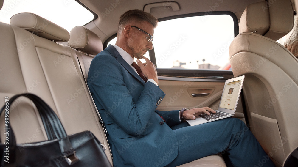
[[[161, 6], [151, 8], [150, 14], [156, 18], [164, 18], [196, 12], [231, 11], [240, 19], [248, 4], [259, 1], [263, 0], [175, 0], [179, 4], [179, 11]], [[151, 3], [164, 2], [164, 5], [172, 3], [169, 0], [80, 0], [80, 2], [98, 16], [85, 26], [99, 35], [103, 41], [116, 33], [119, 17], [124, 12], [132, 9], [143, 10], [146, 4]]]

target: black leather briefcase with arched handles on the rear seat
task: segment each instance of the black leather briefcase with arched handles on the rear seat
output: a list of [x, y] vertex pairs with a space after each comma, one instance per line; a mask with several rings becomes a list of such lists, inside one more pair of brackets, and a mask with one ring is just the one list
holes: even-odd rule
[[[13, 101], [25, 96], [32, 100], [37, 107], [44, 124], [47, 141], [16, 144], [15, 135], [9, 124], [9, 107]], [[4, 111], [5, 125], [1, 134], [7, 137], [0, 145], [1, 166], [70, 166], [92, 167], [111, 166], [104, 152], [103, 145], [90, 132], [84, 131], [67, 136], [58, 116], [41, 98], [34, 94], [19, 94], [8, 100], [5, 97]]]

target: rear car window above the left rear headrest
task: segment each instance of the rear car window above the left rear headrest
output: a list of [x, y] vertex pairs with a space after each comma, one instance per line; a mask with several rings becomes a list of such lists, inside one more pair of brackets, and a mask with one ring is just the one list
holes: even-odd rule
[[75, 0], [5, 0], [0, 10], [0, 22], [10, 24], [11, 16], [22, 12], [39, 15], [68, 32], [94, 19], [94, 15]]

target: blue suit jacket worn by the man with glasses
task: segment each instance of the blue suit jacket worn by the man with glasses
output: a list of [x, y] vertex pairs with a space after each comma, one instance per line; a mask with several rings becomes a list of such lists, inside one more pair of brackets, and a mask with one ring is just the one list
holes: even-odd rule
[[145, 83], [114, 46], [92, 60], [88, 86], [109, 134], [114, 166], [165, 166], [176, 158], [170, 126], [180, 123], [179, 110], [156, 111], [165, 94]]

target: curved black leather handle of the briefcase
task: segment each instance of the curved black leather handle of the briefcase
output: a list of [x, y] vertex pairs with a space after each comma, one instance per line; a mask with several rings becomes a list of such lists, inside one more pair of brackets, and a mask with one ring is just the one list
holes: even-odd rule
[[[17, 99], [20, 96], [25, 96], [29, 98], [35, 104], [41, 116], [41, 120], [44, 124], [44, 127], [46, 129], [46, 134], [48, 136], [48, 139], [49, 140], [52, 140], [55, 138], [58, 139], [61, 153], [64, 155], [66, 162], [68, 162], [70, 165], [72, 164], [72, 162], [77, 162], [78, 159], [77, 160], [72, 159], [72, 158], [76, 158], [75, 150], [73, 149], [72, 144], [69, 141], [69, 138], [65, 132], [63, 125], [60, 122], [60, 119], [52, 110], [52, 108], [48, 104], [46, 104], [44, 100], [42, 100], [40, 97], [31, 93], [17, 94], [9, 99], [8, 106], [4, 105], [1, 108], [0, 115], [2, 114], [2, 111], [4, 110], [4, 107], [5, 107], [5, 111], [8, 111], [8, 112], [5, 112], [5, 114], [9, 116], [10, 105], [13, 103], [15, 99]], [[16, 146], [15, 135], [9, 123], [6, 129], [8, 130], [9, 141], [10, 141], [8, 146], [13, 151], [13, 149]], [[70, 158], [72, 160], [69, 160]]]

